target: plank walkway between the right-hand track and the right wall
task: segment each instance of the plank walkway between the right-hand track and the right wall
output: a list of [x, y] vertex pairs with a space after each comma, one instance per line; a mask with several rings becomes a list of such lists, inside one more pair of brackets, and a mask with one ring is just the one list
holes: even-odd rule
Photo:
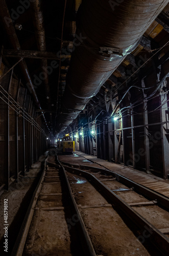
[[[99, 164], [112, 172], [120, 174], [138, 184], [146, 186], [150, 189], [157, 191], [158, 193], [169, 197], [169, 180], [163, 180], [157, 176], [146, 174], [140, 170], [129, 168], [122, 164], [115, 164], [106, 160], [96, 158], [95, 156], [87, 155], [80, 151], [75, 152], [77, 155], [85, 157], [87, 160], [92, 161], [95, 164]], [[86, 165], [86, 162], [83, 162]]]

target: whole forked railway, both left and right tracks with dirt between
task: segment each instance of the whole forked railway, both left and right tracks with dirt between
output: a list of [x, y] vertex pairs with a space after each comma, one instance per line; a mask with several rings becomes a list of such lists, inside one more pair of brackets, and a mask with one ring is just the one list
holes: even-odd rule
[[[138, 202], [126, 201], [127, 193]], [[168, 202], [109, 170], [49, 156], [11, 255], [168, 255], [169, 223], [154, 226], [139, 212], [162, 207], [167, 215]]]

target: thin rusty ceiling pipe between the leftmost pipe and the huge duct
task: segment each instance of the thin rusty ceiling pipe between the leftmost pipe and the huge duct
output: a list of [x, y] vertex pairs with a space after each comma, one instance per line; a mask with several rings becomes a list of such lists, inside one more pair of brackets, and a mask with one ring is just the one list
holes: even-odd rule
[[[44, 25], [43, 25], [43, 13], [41, 8], [41, 0], [35, 0], [31, 3], [32, 12], [33, 12], [33, 23], [35, 28], [35, 36], [37, 41], [38, 50], [45, 52], [46, 51], [46, 42], [45, 42], [45, 32], [44, 32]], [[47, 74], [47, 59], [41, 59], [41, 65], [43, 67], [44, 72], [44, 84], [45, 84], [45, 91], [46, 91], [46, 99], [50, 103], [51, 96], [50, 96], [50, 86], [49, 86], [49, 76]]]

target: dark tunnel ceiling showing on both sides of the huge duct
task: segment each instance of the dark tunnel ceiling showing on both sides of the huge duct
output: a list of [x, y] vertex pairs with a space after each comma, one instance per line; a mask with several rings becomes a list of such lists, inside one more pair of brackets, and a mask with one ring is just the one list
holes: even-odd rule
[[[71, 52], [74, 51], [77, 10], [81, 1], [6, 0], [6, 4], [20, 49], [14, 49], [12, 46], [9, 36], [5, 32], [3, 20], [1, 22], [3, 61], [12, 66], [19, 57], [25, 58], [40, 108], [55, 135], [56, 116], [61, 111], [66, 74], [69, 69]], [[130, 77], [138, 69], [138, 58], [145, 62], [168, 41], [168, 14], [169, 5], [163, 9], [143, 34], [136, 49], [123, 60], [103, 84], [98, 95], [89, 101], [90, 106], [99, 104], [99, 100], [103, 99], [106, 93], [106, 97], [111, 98], [113, 110], [112, 103], [118, 97], [118, 90], [112, 90], [112, 88], [116, 88], [119, 82], [124, 83], [124, 77]], [[4, 19], [6, 26], [10, 26], [9, 18], [4, 17]], [[168, 47], [165, 47], [160, 52], [161, 56], [158, 55], [158, 59], [166, 56], [167, 52]], [[147, 67], [151, 68], [149, 65]], [[19, 66], [15, 67], [14, 72], [25, 79]], [[136, 84], [136, 77], [132, 79], [133, 84]]]

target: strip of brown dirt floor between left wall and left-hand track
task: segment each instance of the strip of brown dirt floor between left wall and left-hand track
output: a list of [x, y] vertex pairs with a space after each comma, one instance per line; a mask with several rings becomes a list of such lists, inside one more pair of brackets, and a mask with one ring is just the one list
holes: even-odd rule
[[[32, 168], [25, 177], [19, 176], [18, 182], [13, 182], [10, 185], [9, 191], [4, 191], [0, 199], [0, 223], [4, 223], [4, 199], [8, 199], [8, 246], [9, 251], [12, 250], [14, 245], [14, 237], [17, 236], [17, 232], [20, 229], [20, 220], [25, 217], [26, 202], [28, 204], [30, 195], [27, 192], [31, 189], [31, 186], [40, 172], [41, 162], [46, 158], [45, 155], [39, 158], [39, 161], [32, 165]], [[26, 201], [26, 202], [25, 202]], [[28, 205], [27, 205], [28, 206]], [[0, 229], [0, 242], [4, 243], [4, 229]], [[4, 253], [3, 246], [1, 246], [0, 251]], [[0, 253], [1, 254], [1, 253]], [[4, 255], [4, 254], [1, 254]]]

